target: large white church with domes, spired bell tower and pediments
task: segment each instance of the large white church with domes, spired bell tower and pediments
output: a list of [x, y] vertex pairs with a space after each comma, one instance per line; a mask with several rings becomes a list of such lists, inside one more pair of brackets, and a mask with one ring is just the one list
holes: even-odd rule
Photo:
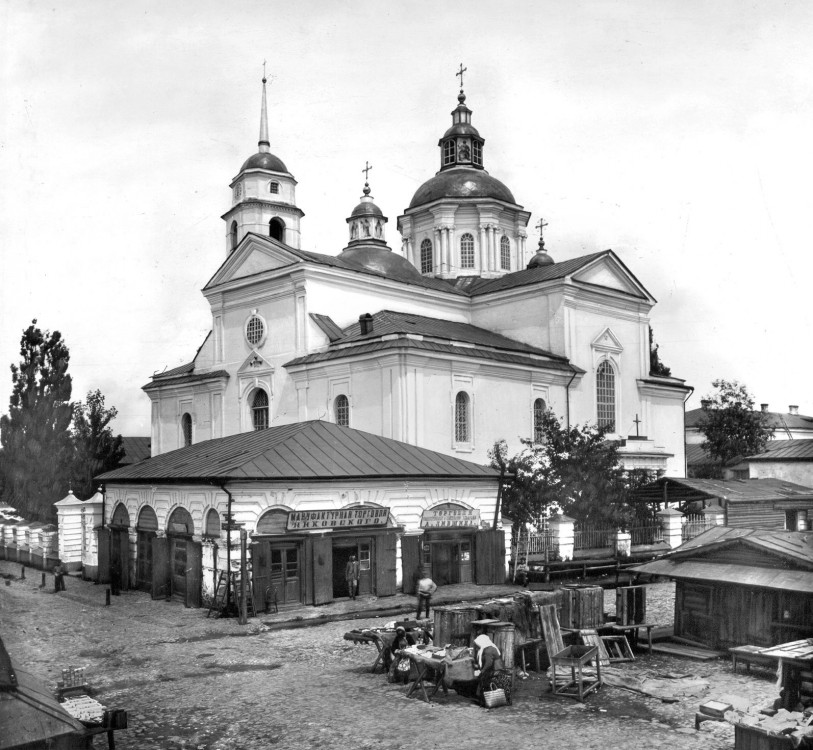
[[611, 250], [558, 262], [527, 247], [530, 214], [485, 169], [462, 89], [439, 170], [397, 219], [369, 185], [337, 255], [307, 246], [296, 180], [259, 147], [232, 180], [226, 253], [205, 285], [210, 334], [156, 374], [153, 455], [325, 420], [475, 463], [533, 438], [541, 414], [598, 423], [629, 468], [684, 473], [682, 380], [649, 372], [652, 295]]

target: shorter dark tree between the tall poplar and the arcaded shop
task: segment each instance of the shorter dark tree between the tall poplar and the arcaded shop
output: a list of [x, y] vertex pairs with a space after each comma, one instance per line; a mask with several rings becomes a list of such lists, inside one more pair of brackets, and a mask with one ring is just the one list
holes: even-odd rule
[[93, 477], [114, 469], [124, 458], [121, 435], [114, 436], [110, 427], [117, 414], [115, 406], [105, 409], [98, 389], [88, 392], [84, 404], [74, 404], [71, 478], [74, 494], [83, 500], [96, 489]]

